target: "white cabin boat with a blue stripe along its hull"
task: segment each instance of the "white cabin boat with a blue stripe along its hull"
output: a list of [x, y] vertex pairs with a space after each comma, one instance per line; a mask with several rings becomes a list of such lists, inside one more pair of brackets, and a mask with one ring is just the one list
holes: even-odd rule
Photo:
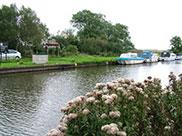
[[137, 53], [123, 53], [117, 58], [117, 61], [122, 65], [141, 64], [144, 58], [139, 57]]

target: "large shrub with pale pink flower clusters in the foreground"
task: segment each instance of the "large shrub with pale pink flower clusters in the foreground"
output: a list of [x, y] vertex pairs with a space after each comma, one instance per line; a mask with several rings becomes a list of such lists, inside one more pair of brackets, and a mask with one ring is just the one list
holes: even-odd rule
[[47, 136], [179, 136], [182, 135], [182, 74], [169, 85], [148, 77], [144, 82], [117, 79], [61, 108], [59, 132]]

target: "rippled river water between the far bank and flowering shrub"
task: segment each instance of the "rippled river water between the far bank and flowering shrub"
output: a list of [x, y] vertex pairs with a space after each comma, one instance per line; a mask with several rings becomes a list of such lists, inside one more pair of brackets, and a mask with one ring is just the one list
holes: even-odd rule
[[0, 76], [0, 136], [45, 136], [63, 115], [60, 108], [74, 97], [92, 91], [96, 83], [120, 77], [143, 81], [182, 73], [182, 61], [130, 66], [100, 66], [64, 71]]

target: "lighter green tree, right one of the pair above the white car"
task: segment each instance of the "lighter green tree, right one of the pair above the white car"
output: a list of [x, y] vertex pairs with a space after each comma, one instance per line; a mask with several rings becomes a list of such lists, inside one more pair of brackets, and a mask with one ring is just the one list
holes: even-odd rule
[[49, 36], [48, 29], [40, 22], [35, 11], [22, 6], [20, 10], [20, 37], [25, 46], [35, 46], [38, 48]]

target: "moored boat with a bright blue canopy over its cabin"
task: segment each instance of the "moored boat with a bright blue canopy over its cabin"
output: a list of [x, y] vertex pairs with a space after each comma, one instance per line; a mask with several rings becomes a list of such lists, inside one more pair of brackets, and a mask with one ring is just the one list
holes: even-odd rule
[[143, 51], [141, 57], [144, 58], [144, 62], [157, 62], [159, 59], [157, 53], [148, 50]]

